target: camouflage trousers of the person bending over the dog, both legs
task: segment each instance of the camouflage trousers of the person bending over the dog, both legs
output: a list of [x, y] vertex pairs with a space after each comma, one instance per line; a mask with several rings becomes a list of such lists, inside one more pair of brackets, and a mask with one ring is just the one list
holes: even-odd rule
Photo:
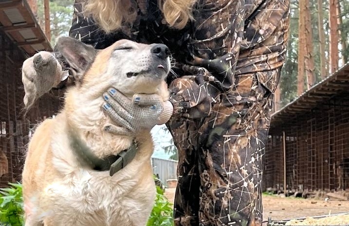
[[174, 115], [167, 123], [179, 151], [176, 226], [262, 223], [262, 157], [284, 60], [288, 12], [273, 24], [276, 29], [264, 41], [240, 48], [229, 91], [205, 82], [212, 99], [207, 116]]

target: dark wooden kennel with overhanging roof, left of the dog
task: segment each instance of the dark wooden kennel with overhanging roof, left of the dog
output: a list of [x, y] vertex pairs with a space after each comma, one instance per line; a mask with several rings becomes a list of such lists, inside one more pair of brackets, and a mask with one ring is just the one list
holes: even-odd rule
[[0, 187], [20, 181], [33, 124], [51, 116], [57, 98], [42, 98], [23, 116], [23, 61], [52, 47], [26, 0], [0, 0]]

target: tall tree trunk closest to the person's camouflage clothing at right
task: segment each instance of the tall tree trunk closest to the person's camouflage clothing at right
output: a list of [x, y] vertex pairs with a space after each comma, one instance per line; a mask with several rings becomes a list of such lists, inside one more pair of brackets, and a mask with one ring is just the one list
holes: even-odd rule
[[298, 75], [297, 95], [304, 92], [304, 56], [306, 48], [305, 38], [305, 1], [299, 1], [299, 22], [298, 22]]

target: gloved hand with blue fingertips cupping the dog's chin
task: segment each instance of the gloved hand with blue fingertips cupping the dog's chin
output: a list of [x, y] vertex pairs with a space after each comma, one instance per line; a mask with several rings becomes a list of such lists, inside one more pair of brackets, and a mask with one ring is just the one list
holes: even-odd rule
[[151, 130], [155, 125], [166, 123], [172, 115], [173, 106], [163, 102], [157, 94], [134, 94], [130, 100], [111, 88], [103, 94], [104, 111], [117, 125], [106, 124], [104, 130], [118, 135], [133, 136], [143, 130]]

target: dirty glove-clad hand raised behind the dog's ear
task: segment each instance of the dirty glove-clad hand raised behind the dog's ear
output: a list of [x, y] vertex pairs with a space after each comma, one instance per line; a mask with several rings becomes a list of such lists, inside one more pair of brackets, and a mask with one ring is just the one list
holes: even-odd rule
[[22, 66], [24, 106], [29, 109], [37, 98], [57, 86], [62, 77], [62, 67], [52, 53], [41, 51], [26, 59]]

